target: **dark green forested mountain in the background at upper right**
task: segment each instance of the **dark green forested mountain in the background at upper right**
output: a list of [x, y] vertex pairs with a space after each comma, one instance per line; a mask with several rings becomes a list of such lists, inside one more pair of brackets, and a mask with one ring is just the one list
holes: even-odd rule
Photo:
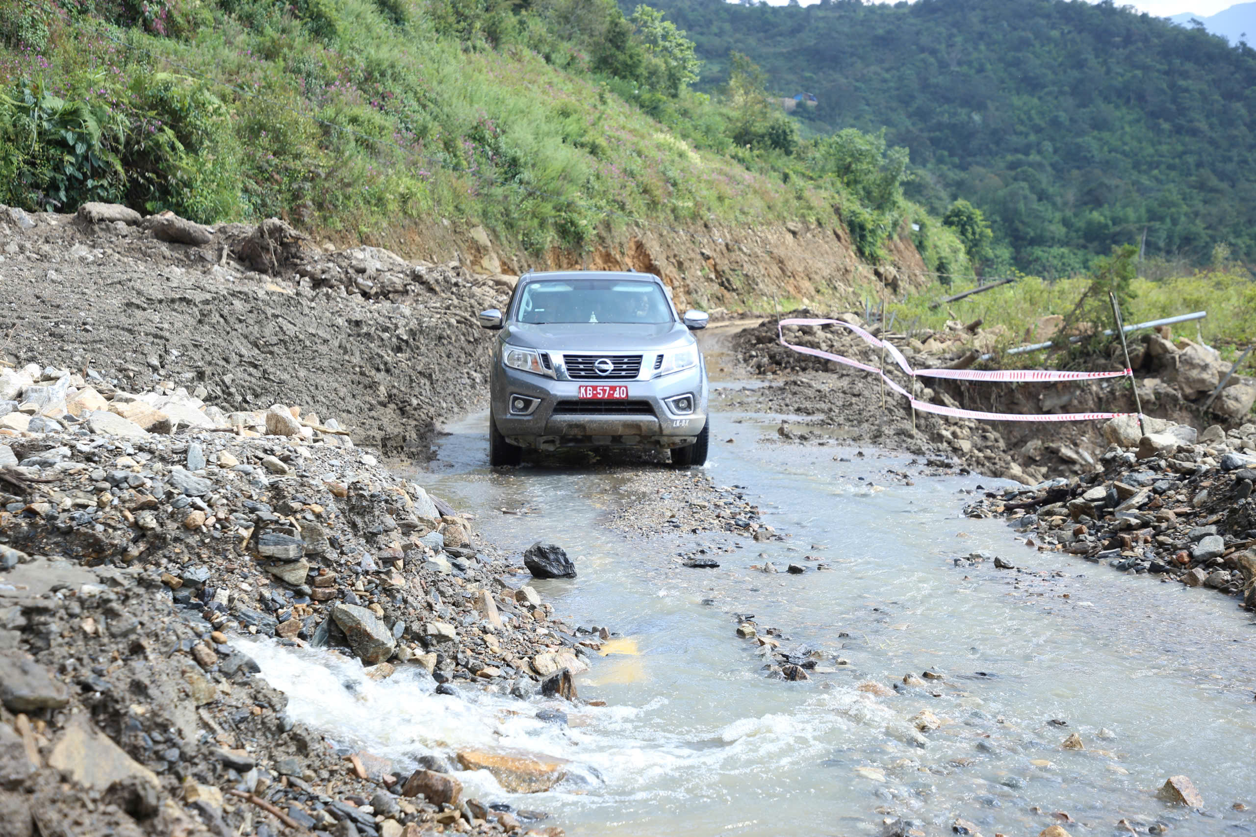
[[[632, 0], [629, 0], [631, 3]], [[1256, 51], [1083, 0], [656, 0], [717, 90], [745, 53], [811, 132], [885, 128], [937, 212], [963, 197], [1004, 259], [1069, 272], [1113, 245], [1256, 260]]]

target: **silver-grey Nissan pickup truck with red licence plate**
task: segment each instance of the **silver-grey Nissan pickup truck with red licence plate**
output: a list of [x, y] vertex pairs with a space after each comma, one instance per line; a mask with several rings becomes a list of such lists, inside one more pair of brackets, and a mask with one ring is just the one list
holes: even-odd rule
[[524, 448], [648, 447], [678, 467], [706, 463], [707, 375], [691, 330], [649, 274], [561, 271], [519, 280], [492, 353], [489, 459], [519, 464]]

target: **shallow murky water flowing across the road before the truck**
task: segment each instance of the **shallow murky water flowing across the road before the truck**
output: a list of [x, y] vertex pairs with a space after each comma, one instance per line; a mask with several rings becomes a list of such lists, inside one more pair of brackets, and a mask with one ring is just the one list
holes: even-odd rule
[[[1256, 834], [1252, 812], [1235, 809], [1256, 806], [1256, 629], [1233, 600], [1037, 552], [1004, 523], [958, 514], [963, 492], [991, 481], [922, 476], [873, 449], [781, 445], [755, 417], [716, 417], [707, 473], [745, 486], [785, 541], [628, 540], [603, 525], [610, 511], [683, 502], [642, 493], [639, 472], [662, 466], [494, 473], [485, 420], [450, 427], [421, 479], [479, 509], [477, 528], [500, 543], [564, 545], [579, 577], [538, 582], [541, 595], [577, 624], [632, 637], [639, 654], [579, 676], [580, 695], [608, 705], [569, 706], [560, 728], [500, 696], [436, 696], [426, 678], [374, 684], [343, 663], [259, 649], [266, 676], [291, 690], [291, 712], [333, 737], [398, 759], [466, 744], [570, 759], [568, 783], [529, 797], [462, 774], [480, 798], [549, 811], [569, 834], [877, 834], [896, 817], [927, 833], [962, 817], [987, 834], [1053, 823], [1074, 834]], [[722, 566], [679, 566], [677, 552], [697, 546]], [[982, 550], [1022, 571], [956, 565]], [[750, 568], [765, 558], [808, 572]], [[777, 627], [785, 650], [819, 653], [821, 671], [805, 683], [765, 676], [757, 646], [734, 636], [734, 614]], [[924, 670], [945, 676], [902, 685]], [[296, 688], [311, 676], [325, 688]], [[860, 688], [894, 680], [891, 695]], [[922, 709], [942, 722], [927, 742], [908, 720]], [[1085, 749], [1061, 747], [1073, 733]], [[1177, 774], [1198, 787], [1205, 813], [1156, 799]]]

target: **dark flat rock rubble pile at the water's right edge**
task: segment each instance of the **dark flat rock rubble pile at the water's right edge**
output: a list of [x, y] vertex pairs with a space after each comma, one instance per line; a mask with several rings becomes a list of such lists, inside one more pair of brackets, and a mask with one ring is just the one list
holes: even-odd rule
[[1135, 417], [1104, 424], [1102, 469], [988, 492], [965, 511], [1005, 514], [1040, 550], [1243, 596], [1256, 609], [1256, 424], [1232, 430]]

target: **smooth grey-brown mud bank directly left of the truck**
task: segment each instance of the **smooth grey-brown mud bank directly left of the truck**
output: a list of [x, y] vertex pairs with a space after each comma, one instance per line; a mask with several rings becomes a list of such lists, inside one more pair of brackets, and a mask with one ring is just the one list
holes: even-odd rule
[[[162, 232], [173, 223], [113, 205], [74, 216], [0, 207], [0, 363], [65, 368], [97, 388], [183, 388], [225, 414], [291, 399], [334, 410], [359, 443], [414, 458], [430, 454], [435, 420], [484, 397], [491, 336], [475, 315], [504, 305], [509, 281], [309, 242], [273, 276], [232, 253], [259, 230], [286, 253], [299, 233], [283, 222], [201, 228], [203, 243]], [[298, 272], [339, 264], [357, 279]]]

